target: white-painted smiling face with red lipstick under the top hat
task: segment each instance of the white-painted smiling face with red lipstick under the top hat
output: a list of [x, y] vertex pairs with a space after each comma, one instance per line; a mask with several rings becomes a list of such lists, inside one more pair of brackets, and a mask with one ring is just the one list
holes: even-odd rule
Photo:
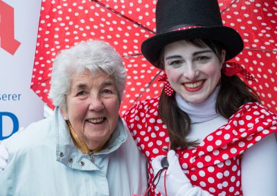
[[176, 41], [165, 47], [164, 62], [170, 85], [188, 102], [204, 101], [220, 81], [222, 63], [211, 48]]

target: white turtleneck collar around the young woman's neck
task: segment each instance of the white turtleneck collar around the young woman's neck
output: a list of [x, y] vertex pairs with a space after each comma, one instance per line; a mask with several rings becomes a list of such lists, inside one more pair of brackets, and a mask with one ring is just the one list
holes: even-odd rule
[[179, 108], [188, 114], [192, 123], [209, 121], [220, 116], [215, 110], [215, 102], [219, 90], [220, 86], [217, 86], [206, 100], [197, 104], [184, 100], [183, 97], [177, 93], [175, 93], [175, 99]]

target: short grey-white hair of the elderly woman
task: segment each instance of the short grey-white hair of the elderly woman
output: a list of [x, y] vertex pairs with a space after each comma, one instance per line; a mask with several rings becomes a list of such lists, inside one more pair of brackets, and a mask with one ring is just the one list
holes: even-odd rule
[[125, 89], [126, 70], [118, 52], [105, 41], [83, 41], [62, 50], [53, 63], [49, 98], [54, 106], [66, 107], [66, 95], [71, 88], [72, 73], [89, 70], [92, 75], [105, 73], [114, 77], [118, 99]]

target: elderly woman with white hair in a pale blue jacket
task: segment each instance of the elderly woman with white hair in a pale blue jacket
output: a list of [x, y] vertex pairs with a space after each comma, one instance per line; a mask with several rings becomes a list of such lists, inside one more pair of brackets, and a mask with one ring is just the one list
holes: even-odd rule
[[146, 161], [118, 116], [124, 88], [123, 62], [107, 43], [62, 51], [49, 94], [55, 112], [1, 145], [1, 195], [142, 194]]

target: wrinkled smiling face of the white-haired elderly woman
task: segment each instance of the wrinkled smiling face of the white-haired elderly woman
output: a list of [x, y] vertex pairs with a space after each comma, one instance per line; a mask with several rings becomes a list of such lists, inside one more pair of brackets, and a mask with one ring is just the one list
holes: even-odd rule
[[75, 133], [90, 150], [102, 145], [113, 133], [118, 121], [119, 99], [113, 77], [89, 71], [73, 75], [66, 97], [67, 110], [62, 110]]

